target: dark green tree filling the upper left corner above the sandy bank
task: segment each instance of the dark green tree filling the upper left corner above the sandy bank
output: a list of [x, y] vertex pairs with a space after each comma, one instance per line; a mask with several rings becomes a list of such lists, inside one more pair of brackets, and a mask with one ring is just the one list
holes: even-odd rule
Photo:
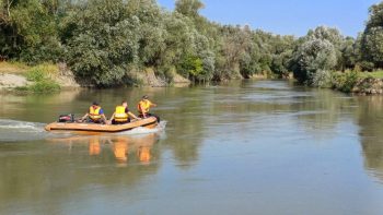
[[0, 2], [0, 55], [30, 63], [60, 59], [57, 0]]

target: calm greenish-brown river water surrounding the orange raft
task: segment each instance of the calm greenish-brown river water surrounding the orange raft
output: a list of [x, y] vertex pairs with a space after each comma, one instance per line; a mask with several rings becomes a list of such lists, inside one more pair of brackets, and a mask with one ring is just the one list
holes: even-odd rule
[[[153, 131], [48, 133], [143, 94]], [[383, 214], [383, 97], [285, 81], [0, 95], [0, 214]]]

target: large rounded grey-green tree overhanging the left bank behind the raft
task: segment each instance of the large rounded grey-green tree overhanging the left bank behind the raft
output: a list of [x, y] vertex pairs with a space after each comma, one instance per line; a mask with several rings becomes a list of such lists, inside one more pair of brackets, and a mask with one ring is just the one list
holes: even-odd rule
[[78, 77], [97, 86], [125, 83], [138, 61], [140, 21], [129, 16], [123, 0], [91, 0], [73, 14], [67, 61]]

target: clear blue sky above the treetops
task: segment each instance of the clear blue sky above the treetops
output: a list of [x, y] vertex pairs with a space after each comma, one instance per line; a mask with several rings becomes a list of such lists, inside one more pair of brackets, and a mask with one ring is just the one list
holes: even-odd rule
[[[356, 37], [364, 29], [368, 10], [379, 0], [201, 0], [201, 14], [221, 24], [249, 25], [281, 35], [303, 36], [320, 25]], [[175, 0], [158, 0], [167, 10]]]

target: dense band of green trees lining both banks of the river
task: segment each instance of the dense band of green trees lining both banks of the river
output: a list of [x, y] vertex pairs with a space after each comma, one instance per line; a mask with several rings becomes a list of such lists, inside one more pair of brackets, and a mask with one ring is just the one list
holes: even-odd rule
[[200, 0], [177, 0], [171, 12], [155, 0], [0, 0], [0, 58], [66, 62], [101, 87], [131, 84], [146, 68], [169, 83], [175, 73], [198, 82], [293, 72], [315, 86], [352, 77], [339, 71], [383, 68], [383, 3], [371, 7], [358, 38], [325, 26], [295, 38], [220, 25], [202, 8]]

